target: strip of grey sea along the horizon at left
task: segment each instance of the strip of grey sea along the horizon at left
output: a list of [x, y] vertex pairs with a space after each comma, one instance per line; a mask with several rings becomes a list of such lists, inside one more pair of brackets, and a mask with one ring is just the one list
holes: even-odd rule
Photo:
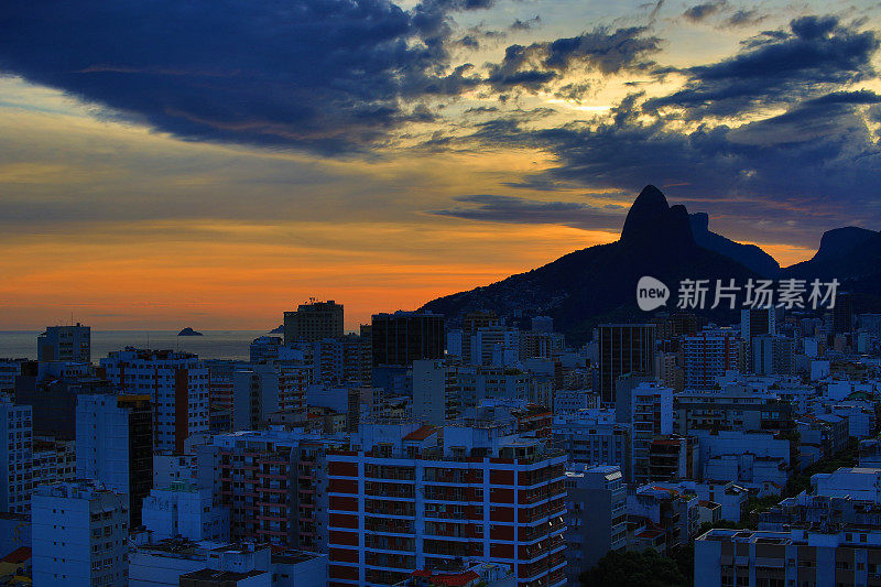
[[[91, 362], [126, 347], [175, 349], [203, 359], [249, 359], [251, 341], [262, 330], [200, 330], [205, 336], [177, 336], [178, 330], [91, 329]], [[36, 337], [42, 330], [0, 330], [0, 357], [36, 359]], [[280, 335], [275, 335], [280, 336]]]

